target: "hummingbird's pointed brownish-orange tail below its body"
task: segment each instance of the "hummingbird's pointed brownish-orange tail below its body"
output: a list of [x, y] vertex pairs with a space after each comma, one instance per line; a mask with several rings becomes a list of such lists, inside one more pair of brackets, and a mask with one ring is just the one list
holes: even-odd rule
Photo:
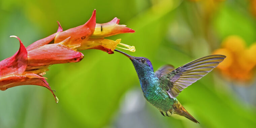
[[184, 116], [195, 123], [199, 123], [193, 116], [188, 113], [188, 111], [181, 105], [179, 101], [173, 104], [172, 112], [180, 116]]

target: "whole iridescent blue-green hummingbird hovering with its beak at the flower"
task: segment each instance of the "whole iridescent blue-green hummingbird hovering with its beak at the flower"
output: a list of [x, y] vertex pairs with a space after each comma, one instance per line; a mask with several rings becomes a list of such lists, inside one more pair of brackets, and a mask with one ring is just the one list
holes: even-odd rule
[[175, 69], [172, 65], [164, 65], [154, 72], [149, 59], [133, 57], [119, 50], [115, 51], [125, 55], [132, 61], [144, 97], [163, 116], [169, 117], [174, 113], [184, 116], [195, 123], [199, 122], [188, 113], [176, 97], [182, 90], [212, 71], [226, 58], [224, 55], [210, 55]]

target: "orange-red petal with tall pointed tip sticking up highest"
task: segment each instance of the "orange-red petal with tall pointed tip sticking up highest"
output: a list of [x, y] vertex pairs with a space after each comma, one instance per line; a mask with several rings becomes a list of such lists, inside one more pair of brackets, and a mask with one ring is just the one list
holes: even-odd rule
[[78, 44], [82, 40], [87, 40], [94, 32], [96, 25], [96, 10], [93, 11], [92, 17], [84, 25], [77, 26], [75, 28], [68, 29], [61, 33], [58, 33], [55, 37], [54, 43], [59, 43], [68, 37], [72, 44]]

